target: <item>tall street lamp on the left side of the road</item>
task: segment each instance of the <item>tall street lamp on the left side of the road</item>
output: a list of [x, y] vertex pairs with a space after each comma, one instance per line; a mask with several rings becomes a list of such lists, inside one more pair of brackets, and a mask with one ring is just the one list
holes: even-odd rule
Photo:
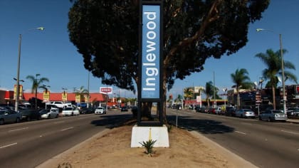
[[[38, 27], [38, 28], [31, 28], [28, 31], [31, 31], [31, 30], [43, 31], [44, 29], [45, 29], [44, 27]], [[19, 34], [18, 67], [16, 69], [16, 103], [15, 103], [15, 108], [14, 108], [15, 111], [19, 110], [21, 43], [22, 43], [22, 34]]]

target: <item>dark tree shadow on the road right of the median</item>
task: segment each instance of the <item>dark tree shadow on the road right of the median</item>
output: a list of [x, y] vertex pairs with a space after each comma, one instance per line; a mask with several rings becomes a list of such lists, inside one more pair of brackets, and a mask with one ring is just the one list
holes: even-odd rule
[[[176, 125], [176, 115], [168, 115], [167, 120], [170, 124]], [[201, 120], [192, 117], [180, 116], [178, 127], [188, 131], [197, 131], [203, 134], [224, 134], [234, 132], [234, 127], [223, 125], [222, 122], [215, 120]]]

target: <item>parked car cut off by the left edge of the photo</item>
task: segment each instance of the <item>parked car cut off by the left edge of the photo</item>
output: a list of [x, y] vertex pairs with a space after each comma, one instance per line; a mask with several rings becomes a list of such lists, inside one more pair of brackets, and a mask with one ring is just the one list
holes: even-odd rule
[[14, 110], [0, 110], [0, 125], [9, 122], [20, 122], [22, 114]]

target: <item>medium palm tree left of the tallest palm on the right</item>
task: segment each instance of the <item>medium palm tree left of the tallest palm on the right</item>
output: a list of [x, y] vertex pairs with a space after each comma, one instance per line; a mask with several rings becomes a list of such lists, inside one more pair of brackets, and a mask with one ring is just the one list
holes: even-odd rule
[[237, 92], [237, 109], [240, 107], [240, 95], [239, 90], [241, 88], [248, 89], [252, 88], [252, 83], [250, 82], [250, 78], [248, 77], [248, 71], [244, 68], [236, 69], [235, 73], [231, 73], [231, 80], [235, 85], [232, 88], [236, 88]]

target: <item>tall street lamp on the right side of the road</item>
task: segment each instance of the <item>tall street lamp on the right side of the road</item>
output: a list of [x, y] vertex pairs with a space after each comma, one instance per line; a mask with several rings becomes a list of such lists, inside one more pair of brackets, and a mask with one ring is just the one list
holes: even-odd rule
[[[264, 29], [264, 28], [256, 28], [256, 31], [270, 31], [275, 33], [274, 31]], [[285, 96], [285, 68], [284, 68], [284, 61], [283, 61], [283, 42], [281, 40], [281, 34], [279, 34], [279, 46], [280, 46], [280, 57], [281, 57], [281, 73], [282, 73], [282, 83], [283, 83], [283, 113], [286, 114], [286, 96]]]

